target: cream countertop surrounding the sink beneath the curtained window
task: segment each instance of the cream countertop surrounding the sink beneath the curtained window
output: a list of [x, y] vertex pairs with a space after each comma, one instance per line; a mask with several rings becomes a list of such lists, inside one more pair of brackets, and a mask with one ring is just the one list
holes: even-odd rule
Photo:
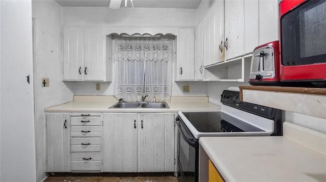
[[208, 97], [172, 97], [170, 108], [108, 108], [117, 99], [113, 96], [74, 96], [74, 101], [45, 108], [44, 112], [101, 112], [101, 113], [176, 113], [179, 111], [218, 111], [221, 107], [208, 102]]

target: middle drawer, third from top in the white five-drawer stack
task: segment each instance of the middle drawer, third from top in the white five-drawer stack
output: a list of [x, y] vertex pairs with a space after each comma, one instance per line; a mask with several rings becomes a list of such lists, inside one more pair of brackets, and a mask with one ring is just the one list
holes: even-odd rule
[[102, 126], [71, 126], [71, 137], [101, 137]]

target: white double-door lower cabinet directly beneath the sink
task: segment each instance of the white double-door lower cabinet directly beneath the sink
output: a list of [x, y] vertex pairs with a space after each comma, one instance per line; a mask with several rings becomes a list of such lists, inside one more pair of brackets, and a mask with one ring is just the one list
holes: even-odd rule
[[103, 172], [174, 172], [174, 113], [103, 114]]

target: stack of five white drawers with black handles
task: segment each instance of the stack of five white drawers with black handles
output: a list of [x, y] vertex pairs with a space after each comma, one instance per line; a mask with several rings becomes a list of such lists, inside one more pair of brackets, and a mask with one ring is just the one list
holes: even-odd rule
[[101, 171], [101, 114], [71, 114], [71, 171]]

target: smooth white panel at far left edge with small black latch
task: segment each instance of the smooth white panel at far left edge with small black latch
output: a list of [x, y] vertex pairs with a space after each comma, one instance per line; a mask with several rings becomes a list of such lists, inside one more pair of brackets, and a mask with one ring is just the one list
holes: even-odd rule
[[[32, 6], [1, 1], [1, 177], [36, 181]], [[30, 84], [26, 76], [30, 75]]]

